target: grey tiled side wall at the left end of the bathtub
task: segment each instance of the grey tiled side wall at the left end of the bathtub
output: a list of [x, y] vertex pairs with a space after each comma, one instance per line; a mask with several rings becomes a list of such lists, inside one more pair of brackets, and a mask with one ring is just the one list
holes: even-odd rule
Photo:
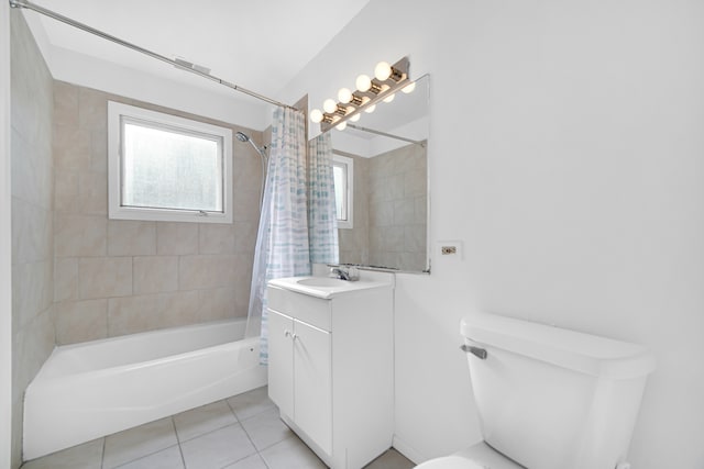
[[22, 458], [22, 399], [54, 348], [52, 76], [11, 12], [12, 467]]

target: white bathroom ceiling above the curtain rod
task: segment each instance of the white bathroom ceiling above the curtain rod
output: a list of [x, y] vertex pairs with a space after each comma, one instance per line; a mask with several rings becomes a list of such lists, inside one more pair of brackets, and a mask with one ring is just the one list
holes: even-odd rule
[[[276, 94], [370, 0], [40, 0], [37, 4], [267, 97]], [[34, 13], [31, 13], [34, 14]], [[41, 16], [54, 47], [213, 90], [209, 80]], [[196, 79], [194, 79], [196, 78]], [[222, 93], [232, 93], [219, 87]]]

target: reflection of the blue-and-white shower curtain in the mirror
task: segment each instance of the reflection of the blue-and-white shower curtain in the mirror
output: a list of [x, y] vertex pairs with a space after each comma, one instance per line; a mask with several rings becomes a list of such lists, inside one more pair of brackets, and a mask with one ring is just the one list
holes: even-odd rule
[[332, 170], [332, 138], [327, 132], [308, 142], [308, 244], [311, 264], [338, 264], [338, 217]]

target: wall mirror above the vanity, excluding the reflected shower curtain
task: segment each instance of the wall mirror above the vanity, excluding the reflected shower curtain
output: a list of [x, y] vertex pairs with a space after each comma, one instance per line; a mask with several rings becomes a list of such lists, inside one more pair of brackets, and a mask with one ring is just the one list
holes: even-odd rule
[[403, 271], [429, 271], [429, 76], [413, 92], [397, 92], [344, 131], [331, 130], [336, 192], [352, 185], [340, 206], [340, 263]]

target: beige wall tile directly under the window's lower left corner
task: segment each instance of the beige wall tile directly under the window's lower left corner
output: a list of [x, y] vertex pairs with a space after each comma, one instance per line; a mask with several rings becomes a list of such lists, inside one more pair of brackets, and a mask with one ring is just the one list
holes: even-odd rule
[[144, 256], [156, 254], [156, 222], [110, 220], [108, 255]]

